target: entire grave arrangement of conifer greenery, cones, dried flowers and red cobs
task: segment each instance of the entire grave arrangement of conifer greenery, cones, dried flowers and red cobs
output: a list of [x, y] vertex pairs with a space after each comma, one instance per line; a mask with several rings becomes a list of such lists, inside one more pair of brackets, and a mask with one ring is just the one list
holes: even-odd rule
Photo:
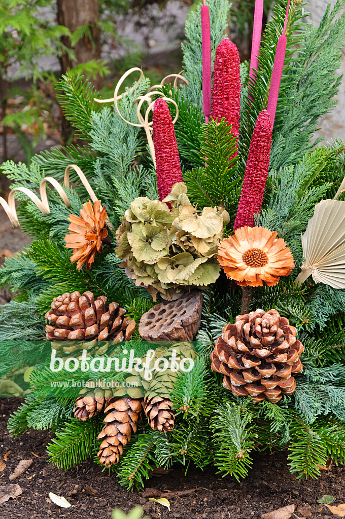
[[[224, 35], [228, 0], [207, 0], [183, 72], [150, 86], [131, 69], [103, 100], [63, 77], [84, 144], [2, 166], [0, 203], [34, 238], [0, 269], [0, 376], [31, 366], [8, 427], [52, 429], [62, 469], [94, 456], [134, 488], [177, 462], [238, 480], [255, 449], [287, 448], [299, 478], [344, 462], [345, 145], [314, 134], [336, 105], [345, 0], [319, 27], [276, 2], [261, 36], [262, 4], [250, 63]], [[149, 349], [148, 371], [168, 366], [151, 378], [101, 370]], [[67, 369], [85, 350], [92, 376]], [[114, 377], [73, 399], [64, 385]]]

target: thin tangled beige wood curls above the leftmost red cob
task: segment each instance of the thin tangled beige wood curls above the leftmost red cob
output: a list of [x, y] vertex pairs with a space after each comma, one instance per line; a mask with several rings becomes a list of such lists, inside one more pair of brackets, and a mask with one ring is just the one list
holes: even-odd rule
[[[129, 69], [127, 72], [125, 72], [125, 74], [120, 78], [120, 80], [118, 81], [118, 83], [117, 83], [117, 85], [115, 87], [114, 96], [112, 98], [110, 98], [110, 99], [95, 99], [95, 101], [97, 103], [112, 103], [113, 102], [114, 106], [115, 106], [116, 112], [118, 113], [118, 115], [120, 115], [121, 119], [123, 119], [125, 122], [127, 122], [128, 125], [144, 128], [146, 136], [147, 136], [150, 152], [151, 152], [151, 155], [152, 155], [152, 160], [153, 160], [154, 166], [156, 167], [154, 145], [153, 145], [152, 133], [151, 133], [152, 121], [149, 122], [149, 115], [150, 115], [150, 112], [153, 110], [153, 105], [154, 105], [154, 101], [152, 101], [152, 95], [160, 95], [161, 98], [164, 101], [166, 101], [168, 103], [172, 103], [172, 104], [175, 105], [175, 107], [176, 107], [176, 116], [175, 116], [174, 120], [172, 121], [172, 124], [175, 124], [175, 122], [177, 121], [178, 116], [179, 116], [179, 110], [178, 110], [178, 106], [177, 106], [176, 102], [173, 99], [164, 97], [163, 93], [160, 90], [155, 90], [155, 89], [159, 88], [159, 87], [162, 87], [164, 85], [164, 83], [166, 82], [166, 80], [168, 78], [170, 78], [170, 77], [171, 78], [174, 77], [174, 87], [177, 86], [177, 82], [178, 82], [179, 79], [181, 79], [182, 81], [185, 81], [185, 83], [187, 85], [188, 85], [188, 81], [181, 74], [169, 74], [168, 76], [165, 76], [162, 79], [160, 84], [153, 85], [152, 87], [150, 87], [148, 92], [145, 95], [139, 95], [139, 97], [137, 97], [137, 99], [136, 99], [136, 102], [139, 101], [138, 102], [138, 106], [137, 106], [137, 119], [139, 121], [139, 124], [138, 124], [137, 122], [132, 122], [132, 121], [128, 121], [127, 119], [125, 119], [124, 116], [121, 114], [121, 112], [120, 112], [120, 110], [118, 108], [118, 104], [117, 104], [117, 101], [122, 99], [123, 96], [126, 95], [126, 93], [127, 93], [127, 92], [124, 92], [124, 93], [119, 95], [118, 92], [120, 90], [120, 87], [123, 84], [124, 80], [130, 74], [132, 74], [133, 72], [140, 72], [140, 77], [139, 77], [139, 79], [138, 79], [138, 81], [136, 83], [136, 86], [138, 86], [141, 83], [141, 80], [144, 77], [144, 75], [143, 75], [143, 72], [142, 72], [141, 69], [139, 69], [138, 67], [133, 67], [132, 69]], [[134, 88], [135, 87], [131, 87], [130, 92], [132, 92], [134, 90]], [[143, 105], [143, 103], [145, 101], [149, 104], [149, 106], [148, 106], [148, 108], [147, 108], [147, 110], [145, 112], [145, 115], [143, 117], [141, 115], [141, 113], [140, 113], [140, 110], [141, 110], [141, 107], [142, 107], [142, 105]]]

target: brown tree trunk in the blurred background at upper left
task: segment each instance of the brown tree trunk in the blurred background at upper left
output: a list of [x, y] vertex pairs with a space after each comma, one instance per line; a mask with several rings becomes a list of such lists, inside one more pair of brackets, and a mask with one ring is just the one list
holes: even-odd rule
[[[94, 40], [92, 43], [90, 38], [85, 36], [76, 43], [74, 47], [75, 62], [71, 61], [67, 54], [62, 54], [60, 59], [62, 74], [79, 63], [100, 59], [102, 49], [98, 25], [98, 0], [57, 0], [57, 7], [58, 23], [60, 25], [65, 25], [71, 32], [75, 31], [80, 25], [89, 25]], [[63, 36], [62, 42], [67, 47], [71, 47], [68, 37]], [[103, 86], [103, 78], [97, 76], [92, 83], [99, 90]]]

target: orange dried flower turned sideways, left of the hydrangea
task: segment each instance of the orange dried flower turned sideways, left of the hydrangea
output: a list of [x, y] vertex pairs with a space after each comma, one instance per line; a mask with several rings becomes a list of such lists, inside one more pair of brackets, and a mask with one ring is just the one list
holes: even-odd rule
[[65, 247], [73, 249], [71, 262], [78, 262], [78, 270], [81, 270], [84, 263], [86, 263], [86, 270], [89, 270], [95, 261], [96, 252], [103, 252], [102, 240], [108, 236], [107, 229], [104, 229], [107, 210], [105, 207], [101, 209], [100, 200], [97, 200], [93, 206], [89, 200], [83, 203], [80, 215], [79, 218], [75, 214], [70, 214], [71, 224], [68, 228], [70, 234], [64, 238]]

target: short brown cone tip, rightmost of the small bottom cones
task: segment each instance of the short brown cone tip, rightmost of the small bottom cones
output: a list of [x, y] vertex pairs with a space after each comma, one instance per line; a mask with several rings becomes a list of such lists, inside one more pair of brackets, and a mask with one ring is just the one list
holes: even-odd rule
[[154, 431], [158, 430], [164, 433], [174, 429], [175, 413], [171, 408], [172, 402], [169, 398], [162, 398], [157, 395], [152, 398], [150, 398], [150, 395], [145, 397], [144, 413]]

